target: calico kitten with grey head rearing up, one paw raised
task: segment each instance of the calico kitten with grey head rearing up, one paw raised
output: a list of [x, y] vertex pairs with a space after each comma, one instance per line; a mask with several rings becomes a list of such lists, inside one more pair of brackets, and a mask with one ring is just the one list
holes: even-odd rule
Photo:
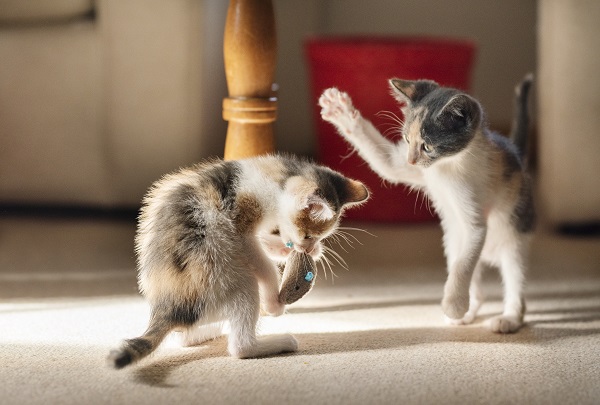
[[531, 82], [528, 76], [516, 89], [513, 142], [486, 128], [477, 100], [429, 80], [390, 80], [403, 105], [397, 143], [363, 118], [346, 93], [331, 88], [319, 100], [322, 118], [379, 176], [424, 190], [433, 203], [448, 266], [442, 309], [451, 323], [473, 321], [483, 300], [482, 270], [494, 265], [504, 282], [504, 312], [491, 329], [509, 333], [523, 324], [525, 255], [534, 225], [524, 164]]

